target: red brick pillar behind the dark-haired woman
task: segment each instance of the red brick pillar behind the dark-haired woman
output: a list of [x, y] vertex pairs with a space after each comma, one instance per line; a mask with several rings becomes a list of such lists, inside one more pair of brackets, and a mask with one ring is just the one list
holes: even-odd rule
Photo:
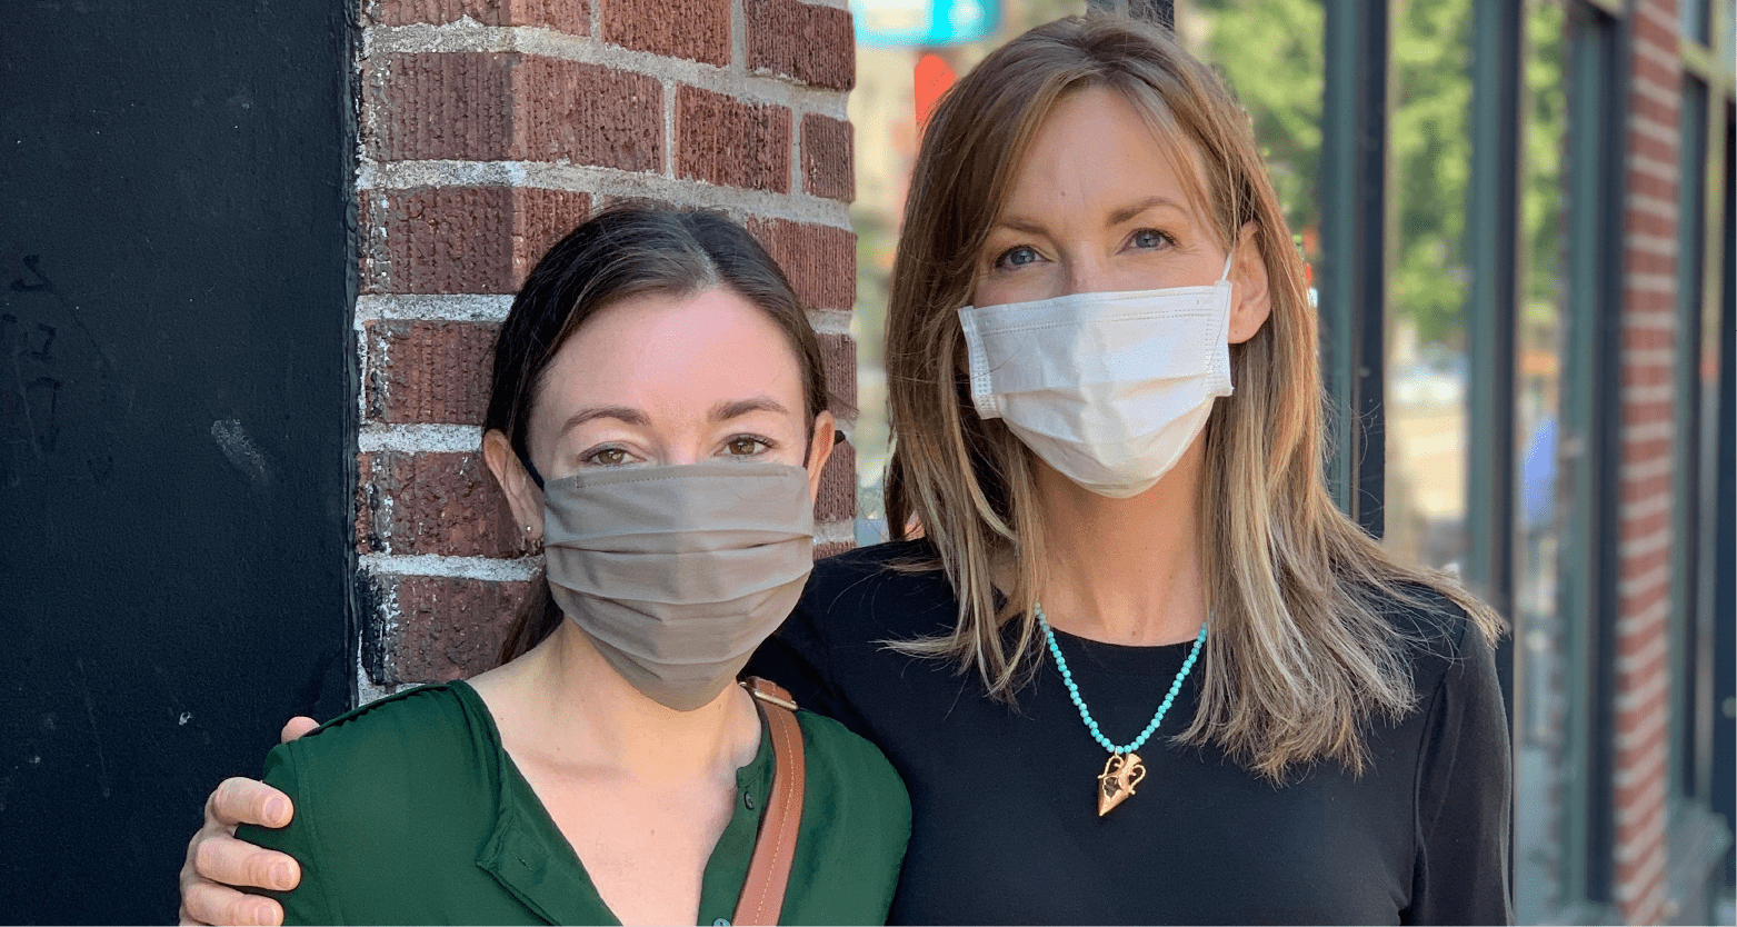
[[[811, 306], [855, 401], [844, 0], [363, 0], [356, 363], [361, 700], [492, 665], [540, 556], [479, 453], [525, 273], [620, 198], [723, 208]], [[820, 554], [849, 547], [834, 455]]]

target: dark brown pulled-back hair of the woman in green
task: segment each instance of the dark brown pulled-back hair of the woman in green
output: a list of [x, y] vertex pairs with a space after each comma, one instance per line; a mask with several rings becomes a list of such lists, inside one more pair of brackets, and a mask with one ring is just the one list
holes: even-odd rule
[[[542, 378], [561, 345], [601, 309], [624, 299], [730, 290], [759, 306], [783, 330], [802, 371], [808, 420], [829, 406], [820, 342], [778, 264], [742, 226], [716, 212], [643, 205], [611, 207], [558, 241], [532, 267], [495, 339], [483, 431], [512, 444], [532, 479], [526, 429]], [[500, 644], [514, 660], [561, 627], [561, 608], [538, 571]]]

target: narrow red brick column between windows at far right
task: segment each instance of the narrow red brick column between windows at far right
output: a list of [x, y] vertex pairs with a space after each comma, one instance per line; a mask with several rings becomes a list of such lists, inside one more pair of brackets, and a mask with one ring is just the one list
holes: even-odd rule
[[1622, 509], [1615, 667], [1615, 901], [1666, 911], [1671, 481], [1681, 64], [1676, 0], [1635, 0], [1622, 220]]

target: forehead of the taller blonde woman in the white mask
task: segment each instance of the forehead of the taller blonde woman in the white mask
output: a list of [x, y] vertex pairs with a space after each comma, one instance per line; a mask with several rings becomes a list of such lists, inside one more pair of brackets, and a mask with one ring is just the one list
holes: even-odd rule
[[1002, 217], [1113, 210], [1162, 196], [1205, 215], [1205, 170], [1197, 148], [1162, 132], [1124, 92], [1065, 94], [1037, 125], [1013, 168]]

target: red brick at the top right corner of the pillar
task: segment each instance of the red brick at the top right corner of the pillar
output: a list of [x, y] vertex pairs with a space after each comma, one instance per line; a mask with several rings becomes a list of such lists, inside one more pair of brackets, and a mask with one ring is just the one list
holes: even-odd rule
[[743, 0], [749, 69], [849, 90], [856, 85], [851, 14], [801, 0]]

